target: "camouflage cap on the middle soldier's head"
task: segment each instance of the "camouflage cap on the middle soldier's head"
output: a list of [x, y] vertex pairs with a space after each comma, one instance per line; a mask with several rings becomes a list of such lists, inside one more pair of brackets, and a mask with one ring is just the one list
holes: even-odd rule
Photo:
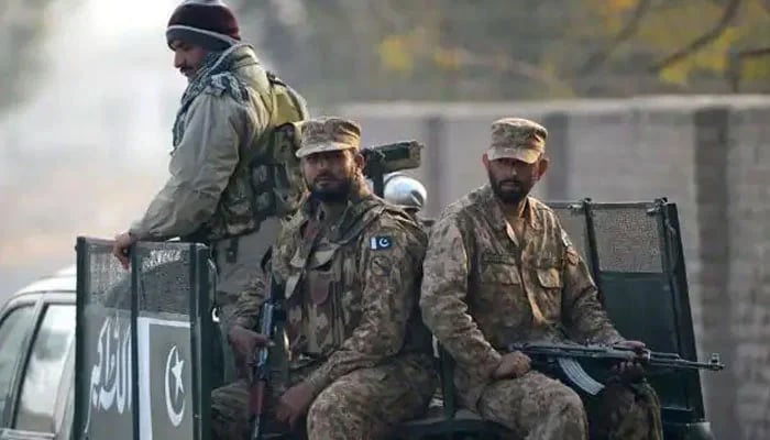
[[361, 127], [337, 117], [309, 119], [301, 124], [302, 138], [297, 157], [340, 150], [359, 150]]

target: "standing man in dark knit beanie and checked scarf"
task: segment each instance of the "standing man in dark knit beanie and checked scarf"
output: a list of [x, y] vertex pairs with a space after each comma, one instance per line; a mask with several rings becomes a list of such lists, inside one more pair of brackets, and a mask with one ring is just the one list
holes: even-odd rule
[[[241, 43], [235, 16], [220, 0], [184, 1], [168, 21], [166, 38], [174, 66], [188, 78], [174, 123], [170, 178], [144, 216], [116, 238], [113, 253], [128, 268], [127, 251], [138, 241], [178, 237], [208, 244], [219, 275], [215, 302], [227, 329], [232, 302], [258, 275], [279, 218], [293, 212], [290, 200], [296, 209], [305, 189], [298, 164], [295, 179], [252, 180], [290, 174], [286, 161], [271, 157], [268, 129], [302, 119], [305, 102]], [[289, 206], [276, 202], [282, 197]]]

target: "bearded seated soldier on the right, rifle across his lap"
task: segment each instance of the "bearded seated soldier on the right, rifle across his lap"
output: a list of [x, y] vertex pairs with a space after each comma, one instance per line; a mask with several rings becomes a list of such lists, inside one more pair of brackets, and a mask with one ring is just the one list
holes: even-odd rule
[[659, 439], [660, 404], [636, 363], [620, 365], [619, 378], [584, 404], [530, 370], [525, 354], [503, 352], [535, 340], [645, 346], [615, 330], [556, 213], [529, 196], [548, 168], [547, 136], [526, 119], [492, 124], [488, 184], [447, 207], [431, 229], [425, 322], [458, 363], [463, 405], [517, 438]]

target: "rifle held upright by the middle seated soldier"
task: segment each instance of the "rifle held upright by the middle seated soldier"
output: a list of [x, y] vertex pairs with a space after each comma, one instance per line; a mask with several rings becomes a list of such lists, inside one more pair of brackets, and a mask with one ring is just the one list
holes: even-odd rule
[[265, 438], [263, 432], [264, 422], [264, 404], [267, 381], [270, 380], [270, 350], [272, 341], [276, 336], [278, 322], [284, 319], [285, 312], [279, 301], [278, 284], [274, 276], [270, 276], [268, 289], [265, 293], [265, 300], [262, 302], [260, 310], [260, 333], [267, 337], [267, 343], [254, 351], [254, 361], [252, 363], [252, 378], [250, 387], [250, 409], [251, 409], [251, 431], [248, 440], [262, 440]]

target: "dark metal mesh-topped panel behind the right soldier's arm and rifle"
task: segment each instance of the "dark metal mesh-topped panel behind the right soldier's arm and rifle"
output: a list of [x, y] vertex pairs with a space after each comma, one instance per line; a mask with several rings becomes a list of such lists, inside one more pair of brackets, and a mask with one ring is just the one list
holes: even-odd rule
[[[653, 351], [696, 360], [690, 297], [675, 204], [553, 204], [586, 258], [618, 331]], [[582, 221], [581, 221], [582, 218]], [[582, 249], [581, 249], [582, 248]], [[697, 371], [654, 375], [663, 419], [704, 418]]]

